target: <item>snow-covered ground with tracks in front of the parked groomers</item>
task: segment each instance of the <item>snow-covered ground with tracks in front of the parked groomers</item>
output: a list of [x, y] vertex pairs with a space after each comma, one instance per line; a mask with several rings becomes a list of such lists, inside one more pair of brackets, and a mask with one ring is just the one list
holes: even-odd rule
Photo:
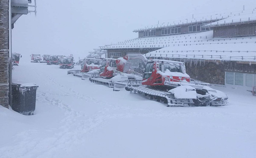
[[[75, 68], [79, 68], [76, 66]], [[128, 91], [21, 61], [14, 81], [37, 83], [35, 115], [0, 107], [0, 158], [252, 158], [256, 97], [217, 87], [228, 106], [166, 107]]]

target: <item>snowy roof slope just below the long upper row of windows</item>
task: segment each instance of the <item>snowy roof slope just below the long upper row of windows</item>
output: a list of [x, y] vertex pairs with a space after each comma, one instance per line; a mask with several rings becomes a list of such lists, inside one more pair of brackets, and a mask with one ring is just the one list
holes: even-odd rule
[[167, 36], [152, 36], [144, 38], [135, 38], [133, 40], [126, 40], [111, 44], [110, 46], [102, 47], [101, 49], [122, 49], [122, 48], [163, 48], [171, 45], [178, 45], [183, 42], [191, 43], [195, 39], [210, 39], [212, 38], [212, 31], [194, 32], [186, 34], [176, 34]]

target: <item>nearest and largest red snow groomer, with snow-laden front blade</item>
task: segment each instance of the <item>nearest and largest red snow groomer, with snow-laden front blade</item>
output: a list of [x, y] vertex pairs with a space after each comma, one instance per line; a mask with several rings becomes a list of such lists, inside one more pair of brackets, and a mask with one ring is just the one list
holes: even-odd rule
[[146, 63], [142, 86], [132, 94], [144, 94], [168, 106], [227, 105], [227, 95], [204, 84], [191, 83], [183, 62], [150, 60]]

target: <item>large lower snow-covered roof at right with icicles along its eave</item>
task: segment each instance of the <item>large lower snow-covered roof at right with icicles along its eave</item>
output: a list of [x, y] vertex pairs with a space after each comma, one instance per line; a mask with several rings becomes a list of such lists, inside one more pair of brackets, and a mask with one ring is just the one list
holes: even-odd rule
[[147, 56], [256, 62], [256, 36], [193, 39], [149, 52]]

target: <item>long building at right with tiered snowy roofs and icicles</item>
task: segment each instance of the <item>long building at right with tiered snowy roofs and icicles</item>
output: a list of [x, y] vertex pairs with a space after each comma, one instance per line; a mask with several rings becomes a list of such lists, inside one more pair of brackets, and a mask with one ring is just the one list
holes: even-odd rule
[[136, 29], [138, 38], [101, 47], [108, 58], [130, 53], [185, 62], [212, 84], [256, 86], [256, 11], [238, 11]]

